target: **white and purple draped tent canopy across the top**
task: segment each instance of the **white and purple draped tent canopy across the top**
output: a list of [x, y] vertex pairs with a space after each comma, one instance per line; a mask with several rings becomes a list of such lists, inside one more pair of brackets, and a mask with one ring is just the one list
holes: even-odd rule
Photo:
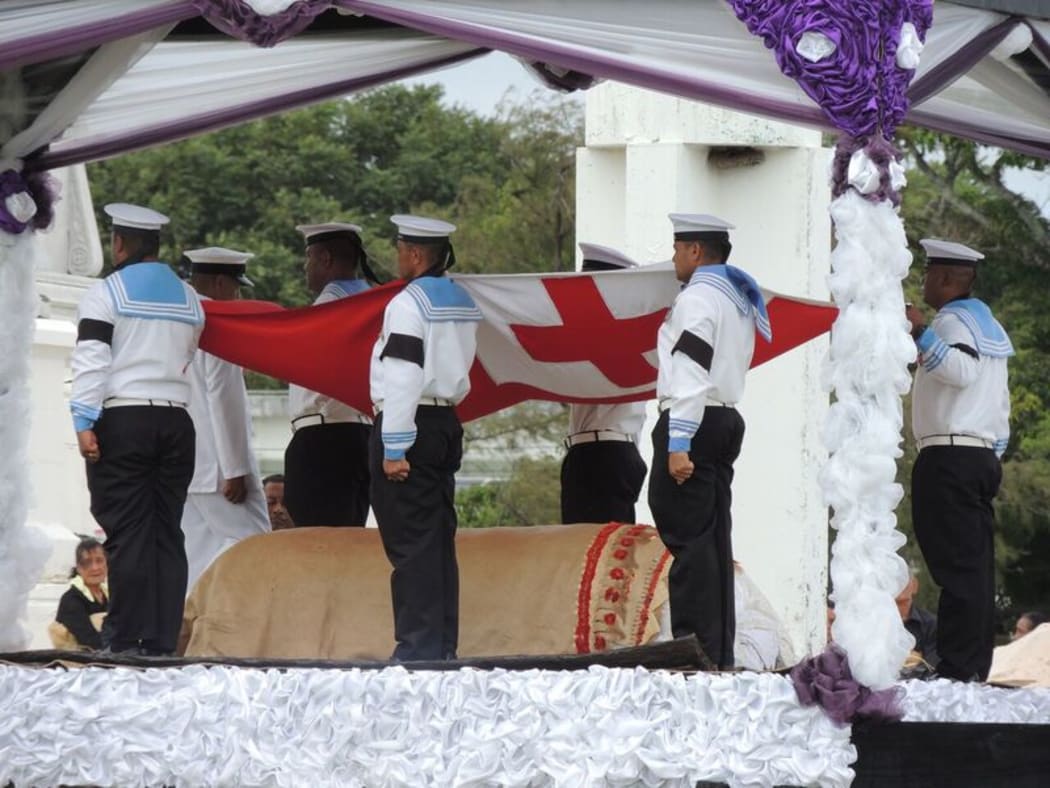
[[[27, 159], [37, 169], [103, 159], [491, 49], [559, 74], [832, 128], [724, 0], [649, 0], [640, 15], [626, 0], [301, 0], [273, 17], [244, 15], [262, 34], [271, 21], [298, 15], [302, 29], [272, 48], [210, 23], [229, 32], [229, 20], [209, 8], [230, 5], [3, 3], [0, 159]], [[1036, 5], [936, 3], [907, 120], [1050, 158], [1050, 19]]]

